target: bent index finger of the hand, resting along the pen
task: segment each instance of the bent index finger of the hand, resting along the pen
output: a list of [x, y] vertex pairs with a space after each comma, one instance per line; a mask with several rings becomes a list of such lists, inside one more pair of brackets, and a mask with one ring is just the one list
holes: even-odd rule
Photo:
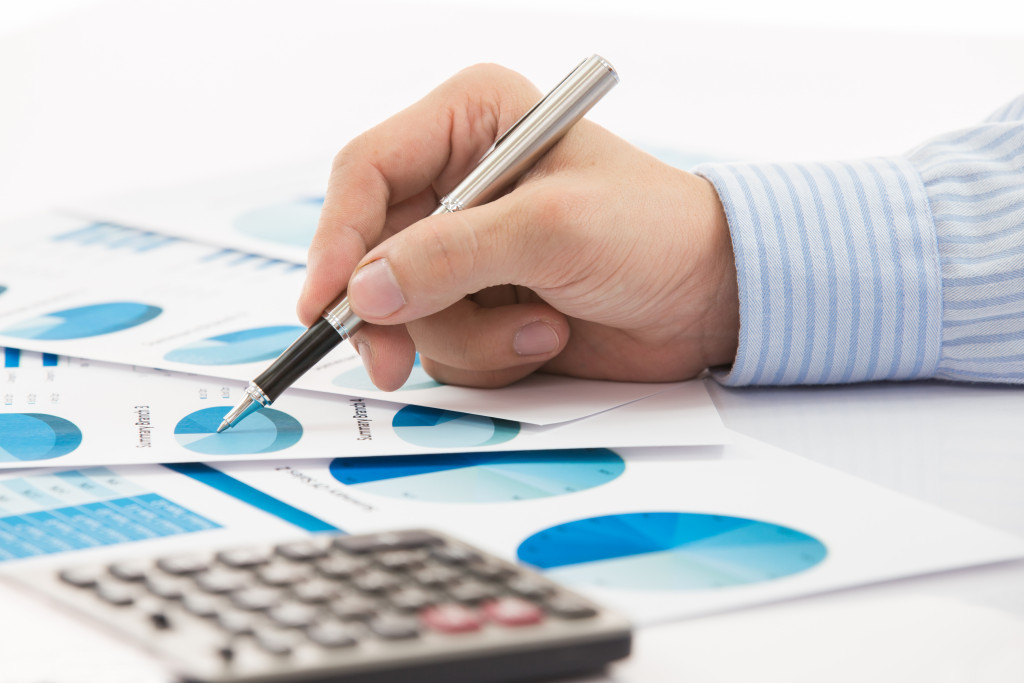
[[406, 224], [429, 213], [537, 96], [515, 72], [472, 67], [345, 145], [309, 248], [300, 319], [311, 324], [345, 290], [359, 259], [381, 241], [391, 207], [422, 203], [422, 215]]

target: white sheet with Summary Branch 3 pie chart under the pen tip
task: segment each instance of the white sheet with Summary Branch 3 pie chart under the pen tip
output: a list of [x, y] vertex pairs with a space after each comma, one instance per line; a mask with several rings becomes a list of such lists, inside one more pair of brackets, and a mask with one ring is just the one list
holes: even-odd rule
[[292, 391], [216, 433], [242, 382], [3, 352], [0, 469], [721, 443], [701, 382], [553, 426]]

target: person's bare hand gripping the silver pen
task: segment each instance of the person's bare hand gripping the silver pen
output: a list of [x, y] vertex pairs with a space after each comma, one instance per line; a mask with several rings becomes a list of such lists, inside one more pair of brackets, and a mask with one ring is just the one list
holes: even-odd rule
[[511, 191], [423, 218], [540, 96], [474, 67], [336, 157], [299, 316], [310, 325], [347, 286], [381, 389], [401, 386], [417, 350], [438, 381], [487, 387], [537, 370], [682, 380], [735, 356], [715, 189], [589, 121]]

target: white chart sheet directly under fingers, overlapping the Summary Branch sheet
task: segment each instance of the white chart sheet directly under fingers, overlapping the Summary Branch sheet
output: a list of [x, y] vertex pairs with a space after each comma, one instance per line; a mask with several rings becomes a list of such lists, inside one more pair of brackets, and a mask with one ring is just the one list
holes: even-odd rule
[[[0, 345], [248, 382], [303, 332], [301, 265], [154, 232], [39, 217], [0, 228]], [[438, 384], [419, 367], [379, 391], [349, 343], [294, 385], [530, 424], [606, 411], [665, 384], [536, 376], [502, 391]]]

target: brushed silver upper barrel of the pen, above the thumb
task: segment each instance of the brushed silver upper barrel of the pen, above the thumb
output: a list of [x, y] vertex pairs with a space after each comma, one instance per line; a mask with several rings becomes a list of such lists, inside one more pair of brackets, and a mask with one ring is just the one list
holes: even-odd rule
[[618, 75], [604, 57], [585, 59], [571, 74], [512, 124], [479, 164], [441, 199], [447, 212], [492, 199], [532, 166], [614, 85]]

